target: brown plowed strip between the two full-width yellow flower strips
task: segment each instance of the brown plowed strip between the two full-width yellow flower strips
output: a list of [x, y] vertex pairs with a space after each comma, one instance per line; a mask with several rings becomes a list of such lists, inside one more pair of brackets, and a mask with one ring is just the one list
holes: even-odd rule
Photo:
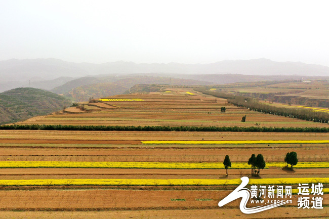
[[[237, 179], [248, 176], [250, 169], [106, 169], [106, 168], [2, 168], [0, 179]], [[329, 177], [328, 168], [262, 169], [262, 178], [312, 178]]]

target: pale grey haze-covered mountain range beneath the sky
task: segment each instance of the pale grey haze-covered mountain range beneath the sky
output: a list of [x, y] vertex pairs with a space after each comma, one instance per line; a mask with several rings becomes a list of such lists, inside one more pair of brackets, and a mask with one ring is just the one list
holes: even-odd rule
[[[225, 60], [211, 64], [136, 64], [123, 61], [91, 64], [72, 63], [52, 58], [11, 59], [0, 61], [0, 92], [22, 86], [52, 90], [69, 81], [86, 76], [89, 76], [90, 80], [88, 78], [80, 79], [78, 85], [92, 84], [95, 80], [102, 80], [95, 79], [95, 77], [104, 79], [110, 76], [112, 82], [117, 80], [113, 80], [113, 76], [120, 77], [129, 74], [229, 83], [255, 81], [255, 77], [250, 77], [250, 75], [257, 75], [257, 80], [292, 79], [289, 75], [329, 76], [329, 67], [301, 62], [274, 62], [268, 59]], [[281, 77], [273, 75], [281, 75]]]

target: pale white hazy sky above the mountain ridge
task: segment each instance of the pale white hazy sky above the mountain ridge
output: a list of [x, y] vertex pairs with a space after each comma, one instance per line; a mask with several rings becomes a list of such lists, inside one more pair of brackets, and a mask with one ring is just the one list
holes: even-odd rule
[[329, 66], [329, 1], [0, 0], [0, 60]]

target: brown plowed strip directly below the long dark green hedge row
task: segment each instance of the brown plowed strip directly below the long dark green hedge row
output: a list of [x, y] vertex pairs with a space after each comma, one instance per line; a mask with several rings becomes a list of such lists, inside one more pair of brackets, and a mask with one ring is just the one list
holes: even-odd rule
[[[151, 140], [327, 140], [329, 133], [243, 133], [243, 132], [101, 132], [0, 130], [0, 143], [7, 140], [61, 140], [61, 141], [151, 141]], [[59, 142], [60, 143], [60, 142]], [[72, 142], [74, 144], [74, 142]], [[77, 143], [80, 144], [80, 143]]]

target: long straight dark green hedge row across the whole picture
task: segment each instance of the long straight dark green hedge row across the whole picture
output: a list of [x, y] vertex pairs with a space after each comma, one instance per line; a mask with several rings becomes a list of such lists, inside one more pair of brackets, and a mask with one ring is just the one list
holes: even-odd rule
[[329, 127], [237, 127], [237, 126], [105, 126], [105, 125], [2, 125], [6, 130], [74, 130], [74, 131], [140, 131], [140, 132], [265, 132], [329, 133]]

